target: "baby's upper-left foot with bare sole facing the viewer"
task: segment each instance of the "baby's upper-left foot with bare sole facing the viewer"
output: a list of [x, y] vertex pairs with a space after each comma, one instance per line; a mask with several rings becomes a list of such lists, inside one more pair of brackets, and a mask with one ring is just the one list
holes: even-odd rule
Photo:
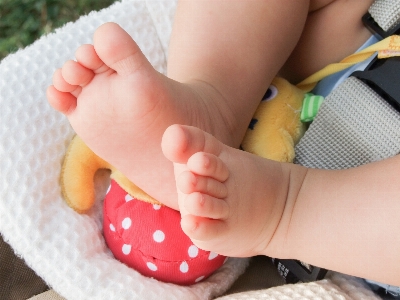
[[117, 24], [99, 27], [93, 45], [82, 45], [76, 59], [54, 73], [50, 104], [97, 155], [164, 204], [178, 209], [173, 166], [160, 148], [169, 125], [218, 131], [218, 138], [238, 146], [216, 107], [218, 93], [158, 73]]

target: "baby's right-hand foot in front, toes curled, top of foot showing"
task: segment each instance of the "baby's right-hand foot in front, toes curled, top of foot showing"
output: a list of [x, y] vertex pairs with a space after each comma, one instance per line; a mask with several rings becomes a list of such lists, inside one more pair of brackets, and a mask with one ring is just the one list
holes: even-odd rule
[[236, 257], [281, 251], [283, 241], [273, 237], [284, 230], [280, 221], [291, 165], [228, 147], [181, 125], [165, 131], [162, 149], [174, 163], [182, 229], [196, 246]]

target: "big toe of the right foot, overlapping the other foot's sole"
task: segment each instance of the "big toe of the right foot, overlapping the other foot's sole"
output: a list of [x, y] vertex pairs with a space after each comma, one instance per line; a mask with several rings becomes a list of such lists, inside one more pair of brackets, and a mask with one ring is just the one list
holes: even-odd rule
[[164, 132], [162, 150], [167, 159], [185, 164], [197, 152], [206, 152], [218, 156], [223, 144], [203, 130], [184, 125], [171, 125]]

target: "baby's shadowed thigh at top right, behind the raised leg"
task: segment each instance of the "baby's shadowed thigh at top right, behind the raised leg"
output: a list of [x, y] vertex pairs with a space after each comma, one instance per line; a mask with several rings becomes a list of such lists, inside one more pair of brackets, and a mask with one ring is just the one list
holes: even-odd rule
[[353, 54], [371, 36], [362, 16], [374, 0], [311, 0], [303, 33], [280, 75], [297, 83]]

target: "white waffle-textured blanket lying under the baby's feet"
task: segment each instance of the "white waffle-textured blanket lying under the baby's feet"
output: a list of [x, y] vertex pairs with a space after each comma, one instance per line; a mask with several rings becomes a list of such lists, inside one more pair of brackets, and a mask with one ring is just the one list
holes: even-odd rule
[[[108, 251], [101, 234], [101, 201], [90, 214], [78, 215], [61, 197], [61, 163], [74, 132], [47, 103], [52, 73], [74, 58], [79, 45], [91, 43], [94, 30], [108, 21], [128, 31], [154, 67], [165, 72], [174, 9], [175, 1], [124, 0], [66, 25], [0, 64], [0, 233], [67, 299], [210, 299], [226, 291], [247, 265], [246, 259], [230, 259], [191, 287], [143, 277]], [[346, 278], [337, 275], [226, 299], [375, 299], [359, 281]]]

